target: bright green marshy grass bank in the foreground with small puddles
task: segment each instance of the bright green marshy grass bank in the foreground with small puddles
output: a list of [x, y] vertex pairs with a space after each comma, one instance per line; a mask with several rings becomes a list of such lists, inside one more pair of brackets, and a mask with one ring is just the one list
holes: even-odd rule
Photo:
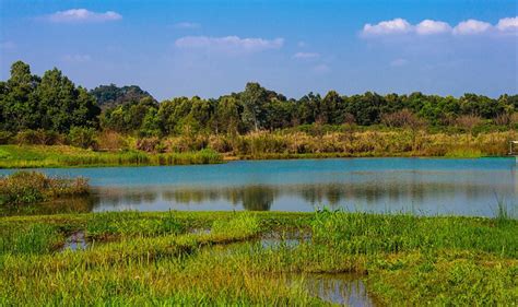
[[[307, 287], [321, 273], [382, 305], [513, 305], [517, 232], [505, 216], [326, 211], [2, 217], [0, 305], [325, 305]], [[62, 251], [78, 233], [85, 249]]]

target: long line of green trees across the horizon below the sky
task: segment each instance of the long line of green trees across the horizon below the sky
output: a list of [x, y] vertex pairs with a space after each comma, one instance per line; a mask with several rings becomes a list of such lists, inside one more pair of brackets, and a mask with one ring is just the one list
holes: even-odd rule
[[344, 96], [329, 91], [325, 96], [309, 93], [294, 99], [254, 82], [243, 92], [219, 98], [175, 97], [158, 103], [134, 85], [102, 85], [89, 92], [56, 68], [37, 76], [22, 61], [12, 64], [9, 80], [0, 81], [0, 130], [10, 133], [93, 129], [139, 137], [243, 134], [302, 125], [451, 126], [469, 118], [508, 126], [516, 120], [517, 109], [518, 95], [457, 98], [367, 92]]

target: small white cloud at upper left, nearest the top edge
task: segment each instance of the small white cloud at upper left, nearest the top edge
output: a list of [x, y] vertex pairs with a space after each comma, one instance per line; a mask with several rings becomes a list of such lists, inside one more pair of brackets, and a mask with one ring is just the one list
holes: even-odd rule
[[45, 20], [54, 23], [87, 23], [87, 22], [109, 22], [121, 20], [122, 16], [114, 11], [104, 13], [92, 12], [86, 9], [72, 9], [58, 11], [47, 15]]

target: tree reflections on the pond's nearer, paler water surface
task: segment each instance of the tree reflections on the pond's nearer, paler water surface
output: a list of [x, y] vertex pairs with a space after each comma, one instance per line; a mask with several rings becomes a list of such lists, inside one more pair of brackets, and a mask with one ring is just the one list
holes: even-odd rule
[[[326, 185], [239, 186], [220, 188], [98, 188], [94, 211], [105, 210], [250, 210], [313, 211], [332, 209], [417, 214], [491, 215], [496, 197], [511, 187], [473, 182], [348, 182]], [[513, 200], [507, 198], [507, 200]]]

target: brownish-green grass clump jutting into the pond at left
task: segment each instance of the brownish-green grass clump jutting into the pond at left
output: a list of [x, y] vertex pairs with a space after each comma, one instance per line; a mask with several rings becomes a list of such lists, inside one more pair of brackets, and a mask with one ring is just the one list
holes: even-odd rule
[[37, 172], [16, 172], [0, 177], [0, 204], [43, 202], [60, 197], [90, 193], [85, 178], [51, 178]]

